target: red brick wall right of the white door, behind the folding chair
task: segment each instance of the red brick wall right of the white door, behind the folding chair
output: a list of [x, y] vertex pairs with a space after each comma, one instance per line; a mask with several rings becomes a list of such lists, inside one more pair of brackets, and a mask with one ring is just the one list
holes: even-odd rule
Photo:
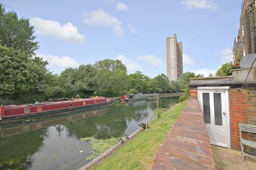
[[[230, 146], [241, 149], [238, 124], [256, 125], [256, 89], [229, 89], [229, 115]], [[243, 134], [243, 138], [249, 137]]]

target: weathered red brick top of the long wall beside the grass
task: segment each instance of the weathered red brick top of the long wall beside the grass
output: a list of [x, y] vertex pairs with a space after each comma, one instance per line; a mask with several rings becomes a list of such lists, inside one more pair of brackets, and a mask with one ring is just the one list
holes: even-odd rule
[[152, 169], [215, 169], [213, 153], [196, 98], [190, 98], [154, 157]]

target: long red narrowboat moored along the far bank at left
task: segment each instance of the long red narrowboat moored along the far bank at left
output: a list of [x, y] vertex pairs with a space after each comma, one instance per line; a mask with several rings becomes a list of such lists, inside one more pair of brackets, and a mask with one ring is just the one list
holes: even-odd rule
[[111, 100], [105, 97], [91, 97], [90, 99], [48, 100], [44, 103], [0, 106], [0, 123], [13, 122], [31, 116], [42, 117], [66, 113], [107, 105], [110, 102]]

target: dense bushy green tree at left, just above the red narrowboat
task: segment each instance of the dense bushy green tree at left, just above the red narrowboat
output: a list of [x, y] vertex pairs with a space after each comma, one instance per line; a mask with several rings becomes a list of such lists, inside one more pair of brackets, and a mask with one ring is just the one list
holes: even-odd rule
[[20, 50], [0, 46], [0, 96], [19, 98], [44, 92], [46, 65], [42, 58], [31, 58]]

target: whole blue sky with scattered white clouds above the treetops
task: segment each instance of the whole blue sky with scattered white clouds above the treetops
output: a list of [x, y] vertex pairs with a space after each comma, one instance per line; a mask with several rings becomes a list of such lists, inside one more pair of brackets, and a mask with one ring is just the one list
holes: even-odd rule
[[127, 72], [166, 74], [166, 37], [183, 43], [183, 71], [209, 75], [232, 61], [242, 0], [0, 0], [35, 26], [38, 56], [65, 67], [119, 59]]

